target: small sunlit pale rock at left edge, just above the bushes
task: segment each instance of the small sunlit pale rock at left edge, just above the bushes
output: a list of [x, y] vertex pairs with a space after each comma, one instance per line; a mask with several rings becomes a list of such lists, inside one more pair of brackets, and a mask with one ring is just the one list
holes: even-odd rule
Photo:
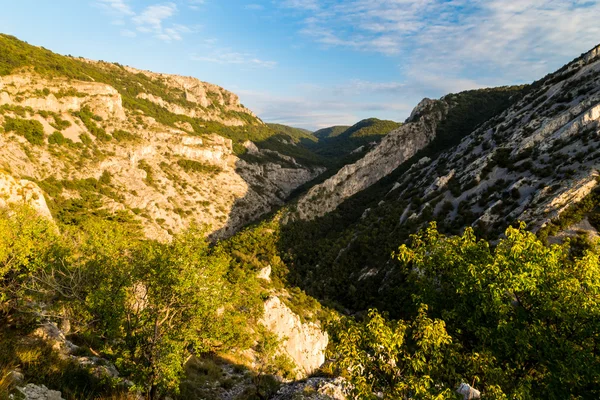
[[0, 172], [0, 207], [8, 204], [28, 204], [40, 215], [52, 219], [44, 193], [38, 185], [25, 179], [16, 180]]

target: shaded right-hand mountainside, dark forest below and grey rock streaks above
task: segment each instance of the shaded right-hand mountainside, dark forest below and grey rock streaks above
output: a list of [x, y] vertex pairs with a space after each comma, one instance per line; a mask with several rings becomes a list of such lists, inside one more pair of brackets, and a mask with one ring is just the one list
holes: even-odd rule
[[[389, 255], [429, 221], [448, 233], [472, 225], [494, 239], [517, 220], [537, 230], [564, 213], [596, 185], [598, 53], [596, 48], [524, 88], [512, 106], [479, 127], [483, 121], [465, 124], [469, 107], [458, 109], [460, 118], [449, 112], [436, 139], [387, 177], [324, 217], [288, 224], [282, 249], [293, 255], [291, 280], [353, 309], [378, 306], [393, 312], [409, 299]], [[489, 103], [475, 102], [475, 109], [484, 104]], [[330, 187], [335, 193], [337, 186]], [[301, 200], [300, 207], [309, 204]], [[304, 215], [320, 214], [317, 209]], [[316, 271], [323, 282], [312, 280]]]

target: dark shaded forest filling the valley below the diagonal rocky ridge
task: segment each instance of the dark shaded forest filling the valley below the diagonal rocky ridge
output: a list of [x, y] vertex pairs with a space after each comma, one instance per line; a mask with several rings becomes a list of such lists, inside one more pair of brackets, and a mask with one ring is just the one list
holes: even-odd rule
[[[442, 232], [459, 233], [473, 220], [449, 224], [444, 221], [444, 213], [424, 213], [421, 218], [401, 222], [402, 213], [411, 203], [418, 209], [425, 200], [418, 191], [407, 192], [402, 198], [390, 195], [390, 191], [412, 165], [423, 157], [434, 159], [451, 149], [477, 126], [504, 111], [519, 94], [520, 88], [508, 87], [446, 96], [450, 109], [429, 146], [335, 211], [313, 221], [296, 221], [282, 227], [281, 250], [289, 255], [287, 260], [293, 265], [290, 282], [319, 299], [335, 301], [352, 310], [376, 306], [399, 317], [397, 310], [406, 299], [398, 295], [393, 285], [396, 274], [386, 273], [390, 253], [429, 221], [437, 220]], [[382, 200], [385, 203], [379, 206]], [[366, 209], [371, 210], [363, 217]], [[319, 266], [318, 280], [313, 279], [315, 265]], [[368, 274], [367, 279], [357, 282], [368, 271], [377, 274]]]

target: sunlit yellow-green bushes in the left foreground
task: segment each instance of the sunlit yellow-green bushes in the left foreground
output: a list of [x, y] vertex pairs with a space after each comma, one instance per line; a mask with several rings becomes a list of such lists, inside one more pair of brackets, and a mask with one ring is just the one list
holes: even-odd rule
[[[194, 229], [170, 243], [148, 241], [93, 215], [61, 231], [28, 208], [1, 211], [0, 378], [19, 368], [70, 399], [127, 389], [68, 358], [58, 362], [49, 345], [32, 339], [48, 319], [68, 323], [78, 355], [101, 355], [133, 382], [128, 390], [150, 398], [179, 392], [191, 355], [254, 345], [265, 296], [254, 270], [260, 255], [251, 265], [231, 250], [240, 245], [210, 247]], [[275, 361], [265, 360], [270, 373], [286, 365]]]

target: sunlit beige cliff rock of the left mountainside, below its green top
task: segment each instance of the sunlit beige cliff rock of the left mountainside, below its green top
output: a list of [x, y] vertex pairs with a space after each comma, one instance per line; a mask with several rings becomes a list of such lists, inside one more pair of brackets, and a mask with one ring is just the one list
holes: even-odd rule
[[[185, 92], [185, 109], [151, 99], [172, 115], [229, 125], [254, 118], [237, 96], [217, 86], [140, 73]], [[211, 104], [217, 106], [206, 107]], [[226, 236], [283, 204], [294, 188], [322, 171], [276, 152], [270, 161], [244, 161], [233, 153], [230, 139], [210, 131], [197, 134], [188, 125], [165, 125], [124, 108], [119, 92], [107, 84], [32, 71], [0, 77], [0, 166], [17, 180], [37, 182], [51, 211], [79, 202], [128, 214], [150, 238], [166, 239], [192, 223]], [[41, 142], [28, 138], [28, 130], [38, 131]]]

